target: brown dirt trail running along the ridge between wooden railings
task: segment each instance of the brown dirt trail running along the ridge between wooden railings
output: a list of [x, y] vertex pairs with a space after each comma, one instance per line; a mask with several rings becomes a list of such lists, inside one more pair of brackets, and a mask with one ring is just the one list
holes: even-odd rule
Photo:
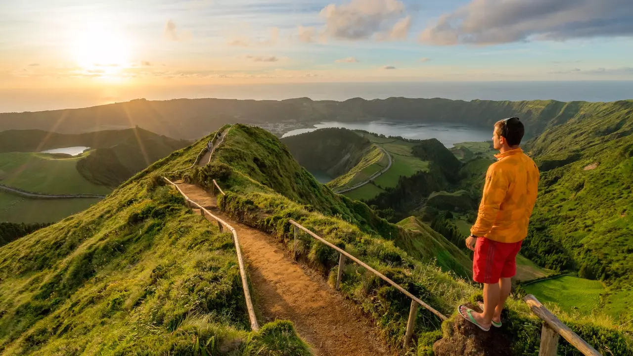
[[[272, 237], [220, 213], [215, 197], [193, 184], [177, 182], [189, 199], [234, 227], [254, 289], [260, 324], [287, 319], [311, 344], [315, 355], [394, 355], [358, 307], [335, 292], [321, 276], [293, 262]], [[209, 218], [211, 219], [211, 218]], [[215, 221], [213, 221], [215, 222]]]

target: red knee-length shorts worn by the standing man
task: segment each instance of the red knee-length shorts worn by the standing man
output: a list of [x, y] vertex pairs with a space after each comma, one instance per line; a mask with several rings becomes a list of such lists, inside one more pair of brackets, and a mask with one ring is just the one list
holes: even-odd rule
[[503, 243], [477, 238], [473, 258], [473, 279], [479, 283], [498, 283], [499, 278], [517, 274], [517, 254], [521, 243]]

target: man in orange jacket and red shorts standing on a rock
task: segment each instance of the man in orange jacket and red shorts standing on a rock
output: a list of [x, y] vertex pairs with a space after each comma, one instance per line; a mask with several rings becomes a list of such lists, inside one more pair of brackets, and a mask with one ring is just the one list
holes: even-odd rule
[[518, 117], [494, 124], [497, 162], [488, 168], [477, 221], [466, 239], [466, 246], [475, 251], [473, 279], [484, 284], [484, 303], [479, 304], [484, 312], [464, 305], [458, 311], [484, 331], [501, 327], [501, 311], [517, 272], [517, 253], [536, 202], [539, 169], [519, 147], [524, 131]]

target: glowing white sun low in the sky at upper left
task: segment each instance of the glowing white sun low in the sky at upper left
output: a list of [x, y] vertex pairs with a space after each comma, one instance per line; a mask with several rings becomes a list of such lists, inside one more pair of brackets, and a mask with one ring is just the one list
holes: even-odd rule
[[107, 27], [91, 25], [77, 33], [73, 42], [73, 58], [87, 72], [108, 76], [129, 66], [128, 42]]

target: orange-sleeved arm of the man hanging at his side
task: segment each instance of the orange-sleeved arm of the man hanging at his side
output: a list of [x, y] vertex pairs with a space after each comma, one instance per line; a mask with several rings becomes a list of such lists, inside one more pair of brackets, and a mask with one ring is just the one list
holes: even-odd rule
[[479, 204], [477, 221], [470, 228], [470, 234], [481, 237], [486, 236], [491, 231], [509, 185], [508, 178], [492, 164], [486, 173], [484, 194]]

